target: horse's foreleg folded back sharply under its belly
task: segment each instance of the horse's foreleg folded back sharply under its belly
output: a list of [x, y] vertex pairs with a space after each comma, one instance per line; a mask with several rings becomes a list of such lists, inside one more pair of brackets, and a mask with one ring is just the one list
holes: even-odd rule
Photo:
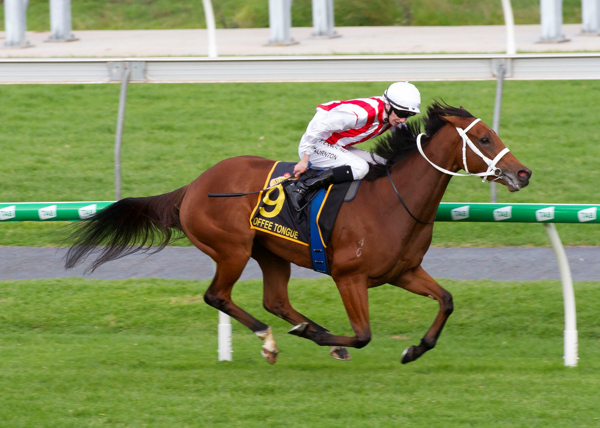
[[311, 331], [309, 328], [303, 328], [303, 324], [296, 325], [289, 333], [313, 340], [317, 345], [362, 348], [371, 341], [366, 278], [348, 276], [337, 279], [335, 284], [340, 291], [341, 300], [346, 308], [355, 336], [338, 336], [327, 330]]

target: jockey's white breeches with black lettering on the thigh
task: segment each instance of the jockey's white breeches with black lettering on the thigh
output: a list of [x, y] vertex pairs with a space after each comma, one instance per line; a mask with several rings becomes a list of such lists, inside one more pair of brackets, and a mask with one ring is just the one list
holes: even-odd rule
[[[300, 158], [302, 158], [302, 153], [299, 154]], [[360, 180], [367, 175], [369, 164], [385, 164], [385, 159], [374, 153], [372, 154], [353, 146], [344, 149], [342, 146], [329, 144], [325, 141], [319, 141], [314, 146], [314, 153], [310, 155], [308, 161], [311, 163], [311, 167], [319, 170], [348, 165], [352, 168], [355, 180]]]

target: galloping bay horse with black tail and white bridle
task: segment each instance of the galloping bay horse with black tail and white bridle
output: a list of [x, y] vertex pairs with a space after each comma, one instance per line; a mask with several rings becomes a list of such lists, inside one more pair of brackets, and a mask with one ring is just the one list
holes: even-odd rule
[[[292, 308], [287, 292], [290, 263], [310, 268], [309, 250], [250, 228], [256, 194], [208, 197], [209, 192], [262, 189], [275, 161], [258, 156], [225, 159], [187, 186], [163, 195], [119, 200], [74, 225], [65, 267], [89, 254], [98, 254], [88, 267], [93, 271], [137, 251], [160, 251], [182, 231], [217, 264], [205, 302], [262, 339], [262, 355], [271, 364], [278, 354], [271, 327], [231, 299], [233, 285], [251, 257], [262, 269], [265, 309], [295, 325], [289, 333], [331, 346], [331, 355], [341, 360], [350, 359], [346, 346], [362, 348], [371, 340], [367, 290], [395, 285], [439, 302], [439, 312], [421, 343], [401, 355], [403, 364], [416, 360], [436, 345], [453, 309], [452, 295], [421, 267], [451, 174], [464, 169], [514, 192], [529, 183], [531, 171], [508, 152], [496, 132], [462, 107], [436, 101], [425, 119], [411, 122], [376, 145], [374, 152], [386, 164], [373, 165], [356, 197], [342, 204], [326, 249], [355, 336], [333, 334]], [[417, 135], [421, 126], [425, 132]]]

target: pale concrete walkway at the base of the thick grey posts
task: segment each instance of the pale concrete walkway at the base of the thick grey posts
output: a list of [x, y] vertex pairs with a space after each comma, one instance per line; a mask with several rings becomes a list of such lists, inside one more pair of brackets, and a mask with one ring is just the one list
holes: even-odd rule
[[[334, 55], [362, 53], [498, 53], [506, 51], [503, 25], [478, 26], [389, 26], [337, 27], [342, 37], [313, 38], [311, 27], [292, 28], [298, 44], [265, 46], [268, 28], [217, 29], [220, 56], [239, 55]], [[566, 43], [537, 43], [539, 25], [517, 25], [518, 52], [600, 51], [600, 37], [581, 36], [580, 24], [563, 25], [571, 39]], [[75, 31], [80, 40], [44, 43], [50, 32], [28, 32], [34, 45], [25, 49], [3, 47], [0, 58], [7, 57], [144, 57], [206, 56], [204, 29]], [[0, 39], [4, 32], [0, 32]]]

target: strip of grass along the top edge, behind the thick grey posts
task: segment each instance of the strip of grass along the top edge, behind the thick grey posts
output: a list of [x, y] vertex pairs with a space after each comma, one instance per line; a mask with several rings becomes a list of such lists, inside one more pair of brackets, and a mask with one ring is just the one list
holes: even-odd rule
[[[500, 1], [345, 0], [335, 3], [335, 25], [502, 25]], [[269, 26], [267, 0], [214, 0], [218, 28]], [[538, 0], [513, 0], [517, 24], [539, 24]], [[74, 30], [205, 28], [201, 0], [77, 0]], [[49, 31], [49, 2], [31, 0], [28, 29]], [[563, 0], [563, 22], [581, 23], [581, 2]], [[311, 0], [292, 3], [292, 25], [312, 26]], [[0, 29], [4, 9], [0, 8]]]

